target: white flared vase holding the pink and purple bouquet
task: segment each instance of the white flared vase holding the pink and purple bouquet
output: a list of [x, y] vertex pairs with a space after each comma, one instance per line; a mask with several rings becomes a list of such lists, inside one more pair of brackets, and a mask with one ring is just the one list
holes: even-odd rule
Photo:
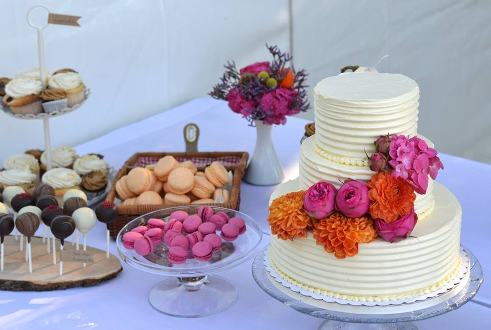
[[273, 125], [265, 125], [256, 120], [256, 147], [244, 175], [244, 181], [257, 186], [277, 185], [283, 181], [285, 174], [276, 156], [271, 132]]

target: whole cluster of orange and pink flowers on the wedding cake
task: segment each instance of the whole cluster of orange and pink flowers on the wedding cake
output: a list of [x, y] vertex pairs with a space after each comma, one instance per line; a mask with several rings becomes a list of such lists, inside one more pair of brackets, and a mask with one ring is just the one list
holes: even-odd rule
[[396, 243], [416, 226], [416, 192], [425, 194], [428, 176], [436, 179], [443, 164], [425, 140], [403, 135], [380, 136], [369, 158], [375, 174], [368, 182], [346, 179], [336, 189], [318, 182], [308, 190], [285, 194], [273, 201], [267, 218], [280, 239], [314, 233], [318, 245], [339, 259], [358, 254], [359, 244], [377, 237]]

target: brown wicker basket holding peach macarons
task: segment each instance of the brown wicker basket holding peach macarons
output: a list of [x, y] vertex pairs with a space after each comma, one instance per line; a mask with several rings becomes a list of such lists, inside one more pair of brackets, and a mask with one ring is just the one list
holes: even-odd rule
[[[247, 166], [249, 159], [249, 153], [247, 152], [137, 152], [131, 156], [123, 165], [123, 167], [116, 174], [113, 187], [107, 194], [106, 201], [114, 202], [117, 198], [116, 194], [116, 182], [126, 175], [132, 168], [138, 166], [145, 166], [148, 164], [157, 163], [157, 161], [164, 156], [173, 156], [177, 161], [183, 162], [186, 160], [192, 160], [195, 162], [198, 170], [204, 170], [206, 164], [210, 164], [213, 161], [220, 161], [224, 164], [227, 170], [233, 172], [232, 191], [230, 192], [230, 200], [228, 203], [210, 204], [213, 206], [225, 207], [229, 209], [239, 210], [240, 205], [240, 184], [242, 182], [242, 176]], [[118, 219], [109, 225], [109, 232], [111, 237], [116, 238], [119, 231], [132, 219], [153, 211], [160, 210], [165, 207], [176, 206], [174, 204], [164, 205], [117, 205]]]

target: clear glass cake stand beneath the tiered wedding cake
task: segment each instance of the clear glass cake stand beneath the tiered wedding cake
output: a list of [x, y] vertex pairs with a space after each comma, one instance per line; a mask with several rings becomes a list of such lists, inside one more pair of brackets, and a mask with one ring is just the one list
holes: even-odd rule
[[[325, 302], [306, 297], [284, 288], [276, 282], [264, 266], [263, 248], [255, 257], [252, 275], [259, 287], [273, 298], [294, 310], [325, 319], [319, 330], [328, 329], [417, 329], [411, 321], [428, 319], [458, 309], [471, 300], [479, 290], [483, 277], [479, 261], [471, 251], [463, 247], [470, 260], [470, 274], [463, 285], [434, 298], [413, 303], [389, 306], [353, 306]], [[464, 278], [465, 279], [465, 278]]]

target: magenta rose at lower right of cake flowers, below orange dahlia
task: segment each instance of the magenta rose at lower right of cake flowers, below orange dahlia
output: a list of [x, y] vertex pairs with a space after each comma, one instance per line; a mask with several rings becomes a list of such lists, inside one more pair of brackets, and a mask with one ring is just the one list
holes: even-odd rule
[[382, 219], [375, 219], [375, 229], [380, 237], [390, 243], [397, 243], [411, 234], [418, 222], [418, 216], [414, 208], [408, 214], [399, 217], [396, 221], [388, 224]]

